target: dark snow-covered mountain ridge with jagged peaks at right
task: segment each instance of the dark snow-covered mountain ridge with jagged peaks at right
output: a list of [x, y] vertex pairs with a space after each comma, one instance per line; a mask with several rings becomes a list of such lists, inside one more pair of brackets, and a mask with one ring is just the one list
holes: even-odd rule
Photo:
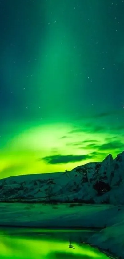
[[2, 179], [0, 201], [124, 204], [124, 151], [70, 172]]

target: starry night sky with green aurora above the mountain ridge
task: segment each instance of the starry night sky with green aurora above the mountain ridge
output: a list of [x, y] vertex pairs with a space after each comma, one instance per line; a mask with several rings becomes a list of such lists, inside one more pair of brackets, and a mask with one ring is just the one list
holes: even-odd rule
[[0, 178], [124, 150], [124, 1], [0, 0]]

